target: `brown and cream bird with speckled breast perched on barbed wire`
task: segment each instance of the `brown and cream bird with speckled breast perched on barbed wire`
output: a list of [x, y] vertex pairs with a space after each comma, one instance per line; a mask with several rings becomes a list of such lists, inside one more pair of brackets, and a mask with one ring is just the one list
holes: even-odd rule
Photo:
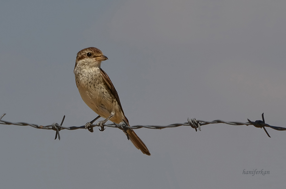
[[[104, 130], [102, 125], [108, 120], [117, 124], [124, 121], [130, 126], [128, 119], [124, 115], [114, 85], [106, 72], [100, 67], [101, 62], [105, 60], [108, 60], [108, 58], [103, 55], [101, 50], [89, 47], [77, 53], [76, 65], [74, 67], [76, 86], [82, 100], [99, 115], [96, 119], [99, 117], [105, 118], [103, 121], [97, 123], [102, 128], [100, 131]], [[92, 123], [86, 123], [86, 128], [90, 130], [89, 126]], [[124, 133], [137, 149], [140, 149], [146, 155], [151, 155], [144, 142], [136, 135], [133, 129], [125, 127]]]

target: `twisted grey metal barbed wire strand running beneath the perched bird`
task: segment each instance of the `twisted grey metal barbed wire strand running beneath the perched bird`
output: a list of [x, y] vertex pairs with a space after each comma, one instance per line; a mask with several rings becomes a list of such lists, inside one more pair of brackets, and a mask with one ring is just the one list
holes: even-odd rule
[[[48, 130], [54, 130], [56, 131], [55, 134], [55, 139], [61, 139], [60, 135], [59, 135], [59, 131], [62, 129], [67, 129], [67, 130], [76, 130], [76, 129], [86, 129], [86, 126], [72, 126], [72, 127], [63, 127], [63, 121], [65, 120], [65, 115], [63, 116], [63, 119], [61, 121], [61, 124], [59, 125], [58, 123], [53, 123], [51, 125], [37, 125], [37, 124], [30, 124], [30, 123], [25, 123], [25, 122], [18, 122], [18, 123], [12, 123], [10, 121], [4, 121], [2, 120], [2, 118], [5, 116], [6, 114], [4, 113], [1, 117], [0, 117], [0, 124], [2, 125], [19, 125], [19, 126], [31, 126], [37, 129], [48, 129]], [[100, 118], [100, 116], [96, 117], [94, 120], [92, 120], [90, 123], [94, 123], [94, 121], [96, 121], [98, 118]], [[100, 131], [104, 130], [104, 127], [114, 127], [114, 128], [119, 128], [121, 130], [124, 130], [126, 128], [130, 128], [130, 129], [140, 129], [140, 128], [148, 128], [148, 129], [164, 129], [164, 128], [172, 128], [172, 127], [179, 127], [179, 126], [190, 126], [192, 128], [194, 128], [196, 131], [197, 129], [199, 129], [201, 131], [200, 126], [202, 125], [208, 125], [208, 124], [215, 124], [215, 123], [225, 123], [228, 125], [253, 125], [254, 127], [257, 128], [263, 128], [264, 131], [266, 132], [266, 134], [268, 135], [268, 137], [270, 137], [270, 135], [268, 134], [268, 132], [266, 131], [265, 127], [270, 127], [271, 129], [275, 129], [277, 131], [285, 131], [286, 128], [284, 127], [276, 127], [276, 126], [272, 126], [272, 125], [268, 125], [265, 123], [264, 120], [264, 113], [262, 113], [262, 120], [256, 120], [256, 121], [250, 121], [249, 119], [248, 122], [243, 123], [243, 122], [237, 122], [237, 121], [223, 121], [223, 120], [214, 120], [214, 121], [203, 121], [203, 120], [198, 120], [198, 119], [187, 119], [188, 122], [185, 123], [173, 123], [170, 125], [165, 125], [165, 126], [161, 126], [161, 125], [134, 125], [134, 126], [128, 126], [128, 123], [125, 122], [121, 122], [119, 124], [117, 123], [112, 123], [112, 124], [103, 124], [101, 127], [103, 127], [103, 129], [99, 129]], [[88, 130], [90, 132], [93, 132], [93, 127], [98, 127], [100, 125], [89, 125]]]

